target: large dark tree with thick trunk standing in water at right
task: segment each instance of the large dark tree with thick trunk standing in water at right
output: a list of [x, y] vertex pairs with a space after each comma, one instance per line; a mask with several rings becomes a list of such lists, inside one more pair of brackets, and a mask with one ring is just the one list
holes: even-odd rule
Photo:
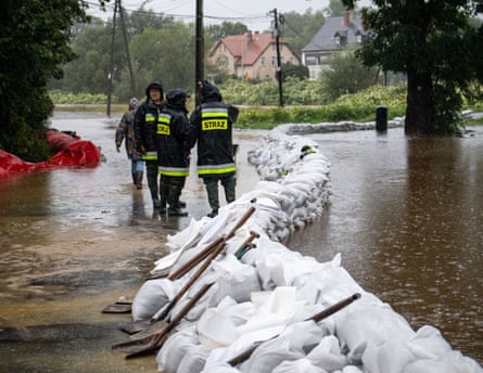
[[[343, 0], [353, 8], [357, 0]], [[461, 93], [470, 94], [481, 74], [483, 38], [470, 26], [474, 2], [467, 0], [373, 0], [363, 18], [372, 34], [358, 55], [368, 66], [407, 76], [407, 134], [457, 131]], [[480, 33], [480, 37], [479, 34]], [[480, 56], [481, 59], [481, 56]]]

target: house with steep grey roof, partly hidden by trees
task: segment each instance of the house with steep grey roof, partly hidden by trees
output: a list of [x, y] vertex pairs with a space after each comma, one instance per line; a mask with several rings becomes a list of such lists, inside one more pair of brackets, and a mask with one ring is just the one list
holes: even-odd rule
[[308, 67], [309, 78], [316, 79], [328, 67], [329, 57], [347, 47], [358, 47], [367, 38], [359, 14], [346, 11], [343, 16], [329, 17], [302, 49], [302, 63]]

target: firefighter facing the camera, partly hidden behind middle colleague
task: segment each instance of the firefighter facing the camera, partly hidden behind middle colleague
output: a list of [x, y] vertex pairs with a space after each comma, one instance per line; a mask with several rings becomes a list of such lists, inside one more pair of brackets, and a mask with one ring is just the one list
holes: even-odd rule
[[164, 106], [163, 86], [151, 82], [145, 89], [145, 101], [138, 107], [135, 115], [136, 146], [145, 162], [145, 176], [150, 189], [153, 207], [161, 207], [160, 184], [157, 173], [156, 129], [160, 113]]

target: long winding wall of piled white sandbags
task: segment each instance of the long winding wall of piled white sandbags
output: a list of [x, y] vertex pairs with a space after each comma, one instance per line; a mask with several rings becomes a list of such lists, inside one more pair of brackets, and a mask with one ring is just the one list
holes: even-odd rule
[[[434, 327], [412, 331], [356, 283], [340, 255], [319, 262], [280, 243], [328, 202], [329, 163], [314, 143], [271, 131], [251, 162], [263, 180], [217, 217], [168, 236], [171, 254], [153, 269], [167, 276], [147, 281], [135, 297], [135, 321], [150, 320], [191, 284], [170, 308], [173, 320], [213, 284], [162, 345], [160, 371], [483, 372]], [[317, 317], [343, 299], [351, 301]]]

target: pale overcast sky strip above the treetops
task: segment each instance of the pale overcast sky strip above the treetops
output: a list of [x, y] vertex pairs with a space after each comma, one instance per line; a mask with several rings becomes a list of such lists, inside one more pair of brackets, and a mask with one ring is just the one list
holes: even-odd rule
[[[103, 18], [112, 17], [114, 0], [111, 0], [106, 13], [97, 11], [96, 0], [90, 0], [89, 14]], [[122, 0], [123, 8], [128, 12], [139, 9], [142, 4], [156, 13], [165, 13], [175, 16], [176, 20], [194, 22], [196, 0]], [[363, 1], [361, 3], [368, 3]], [[224, 21], [241, 22], [249, 29], [266, 30], [270, 28], [274, 15], [269, 12], [277, 9], [278, 13], [295, 11], [305, 13], [307, 9], [313, 11], [323, 10], [329, 5], [329, 0], [204, 0], [204, 25], [220, 24]]]

